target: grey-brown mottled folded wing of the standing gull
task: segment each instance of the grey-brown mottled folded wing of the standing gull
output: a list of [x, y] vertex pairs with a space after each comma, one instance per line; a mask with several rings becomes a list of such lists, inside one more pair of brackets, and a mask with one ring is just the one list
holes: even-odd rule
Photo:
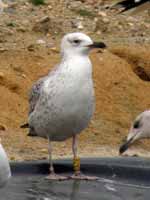
[[31, 114], [35, 106], [39, 100], [40, 94], [41, 94], [41, 88], [45, 81], [46, 77], [40, 78], [31, 88], [30, 94], [29, 94], [29, 114]]

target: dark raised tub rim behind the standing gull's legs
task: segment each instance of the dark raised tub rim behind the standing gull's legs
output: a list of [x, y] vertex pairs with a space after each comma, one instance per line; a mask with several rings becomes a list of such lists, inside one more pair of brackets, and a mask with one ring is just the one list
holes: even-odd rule
[[[46, 160], [10, 162], [12, 174], [47, 174], [49, 164]], [[72, 160], [54, 160], [57, 173], [72, 173]], [[82, 158], [83, 173], [103, 177], [150, 180], [150, 160], [139, 157]]]

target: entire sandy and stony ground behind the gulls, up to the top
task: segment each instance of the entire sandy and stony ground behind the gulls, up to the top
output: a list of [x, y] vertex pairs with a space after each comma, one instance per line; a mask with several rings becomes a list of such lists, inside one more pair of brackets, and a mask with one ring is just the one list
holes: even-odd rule
[[[93, 51], [96, 112], [79, 136], [80, 156], [118, 156], [132, 120], [150, 107], [149, 11], [131, 16], [110, 10], [111, 1], [5, 1], [0, 15], [0, 137], [11, 160], [47, 158], [47, 141], [27, 137], [28, 93], [60, 61], [59, 43], [81, 31], [108, 49]], [[148, 140], [129, 155], [150, 156]], [[71, 140], [53, 144], [54, 158], [71, 157]]]

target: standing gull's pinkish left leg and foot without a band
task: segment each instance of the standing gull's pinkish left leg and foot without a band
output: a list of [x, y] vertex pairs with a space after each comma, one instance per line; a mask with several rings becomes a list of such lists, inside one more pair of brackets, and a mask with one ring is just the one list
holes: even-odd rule
[[49, 153], [48, 155], [49, 155], [50, 167], [49, 167], [49, 175], [46, 177], [46, 179], [59, 180], [59, 181], [68, 179], [68, 177], [60, 176], [60, 175], [55, 174], [53, 161], [52, 161], [52, 145], [51, 145], [51, 141], [50, 141], [49, 137], [48, 137], [48, 153]]

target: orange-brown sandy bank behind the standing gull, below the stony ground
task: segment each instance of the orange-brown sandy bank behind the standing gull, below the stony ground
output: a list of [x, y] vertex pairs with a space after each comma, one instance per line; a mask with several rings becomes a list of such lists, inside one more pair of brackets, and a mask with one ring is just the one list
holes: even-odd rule
[[[81, 156], [118, 156], [119, 145], [127, 135], [131, 120], [148, 108], [149, 94], [145, 93], [149, 82], [141, 80], [134, 72], [137, 63], [142, 65], [142, 62], [146, 70], [150, 61], [148, 48], [116, 46], [104, 53], [92, 53], [96, 112], [89, 128], [79, 136]], [[27, 120], [28, 93], [32, 83], [59, 62], [59, 53], [42, 48], [36, 52], [7, 51], [0, 57], [3, 66], [0, 77], [2, 143], [12, 160], [46, 158], [47, 141], [27, 137], [27, 130], [19, 126]], [[147, 141], [144, 144], [138, 142], [129, 154], [148, 156], [148, 146]], [[55, 158], [71, 155], [71, 140], [54, 143]]]

